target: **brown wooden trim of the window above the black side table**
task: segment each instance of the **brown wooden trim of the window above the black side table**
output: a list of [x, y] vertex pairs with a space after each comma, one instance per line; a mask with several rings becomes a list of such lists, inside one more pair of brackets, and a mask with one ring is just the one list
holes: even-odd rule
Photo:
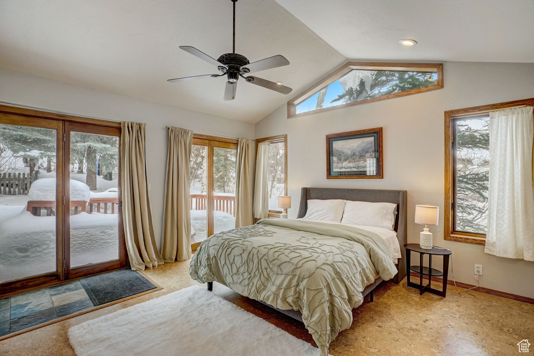
[[468, 242], [469, 244], [485, 245], [485, 234], [459, 232], [453, 230], [452, 219], [452, 201], [453, 197], [453, 155], [452, 155], [452, 132], [453, 122], [455, 118], [482, 115], [487, 114], [494, 110], [503, 110], [508, 108], [520, 107], [520, 106], [534, 106], [534, 98], [507, 101], [497, 104], [489, 104], [471, 108], [456, 109], [445, 111], [445, 196], [444, 196], [444, 231], [443, 238], [445, 240]]

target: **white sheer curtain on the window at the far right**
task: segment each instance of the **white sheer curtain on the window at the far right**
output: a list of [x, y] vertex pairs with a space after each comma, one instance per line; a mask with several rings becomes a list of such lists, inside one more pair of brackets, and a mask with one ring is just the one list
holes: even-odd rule
[[532, 107], [490, 112], [488, 234], [484, 252], [534, 261]]

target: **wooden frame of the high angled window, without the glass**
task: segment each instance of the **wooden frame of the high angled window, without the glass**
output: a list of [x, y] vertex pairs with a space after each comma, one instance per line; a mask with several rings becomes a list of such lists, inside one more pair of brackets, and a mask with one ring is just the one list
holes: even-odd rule
[[[360, 100], [350, 103], [344, 103], [328, 108], [322, 108], [317, 110], [310, 110], [306, 112], [301, 112], [300, 114], [296, 113], [296, 107], [303, 101], [311, 98], [311, 96], [317, 94], [319, 91], [323, 90], [328, 85], [335, 82], [337, 79], [341, 78], [348, 72], [353, 69], [371, 69], [371, 70], [413, 70], [413, 71], [435, 71], [437, 73], [437, 80], [435, 85], [426, 86], [424, 88], [417, 88], [412, 90], [407, 90], [405, 92], [392, 93], [388, 95], [379, 96], [378, 98]], [[385, 62], [347, 62], [343, 64], [340, 68], [337, 68], [332, 73], [328, 74], [326, 77], [320, 79], [317, 83], [311, 85], [306, 90], [304, 90], [295, 98], [287, 102], [287, 118], [302, 117], [312, 114], [317, 114], [319, 112], [331, 111], [335, 109], [341, 109], [349, 106], [366, 104], [373, 101], [380, 101], [392, 98], [398, 98], [399, 96], [411, 95], [416, 93], [427, 92], [430, 90], [436, 90], [443, 88], [443, 63], [385, 63]]]

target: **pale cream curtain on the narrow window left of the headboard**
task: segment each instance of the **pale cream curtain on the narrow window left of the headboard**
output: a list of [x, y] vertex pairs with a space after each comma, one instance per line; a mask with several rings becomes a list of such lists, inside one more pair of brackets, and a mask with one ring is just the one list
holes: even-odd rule
[[254, 183], [255, 219], [267, 219], [269, 217], [269, 189], [267, 184], [269, 146], [269, 141], [258, 143], [258, 151], [256, 153], [256, 180]]

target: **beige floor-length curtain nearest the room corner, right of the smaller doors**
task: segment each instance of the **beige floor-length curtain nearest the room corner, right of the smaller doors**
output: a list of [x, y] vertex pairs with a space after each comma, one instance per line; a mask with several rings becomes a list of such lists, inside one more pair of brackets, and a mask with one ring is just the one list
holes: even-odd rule
[[254, 224], [252, 213], [254, 193], [253, 140], [239, 139], [235, 185], [235, 227], [252, 225]]

